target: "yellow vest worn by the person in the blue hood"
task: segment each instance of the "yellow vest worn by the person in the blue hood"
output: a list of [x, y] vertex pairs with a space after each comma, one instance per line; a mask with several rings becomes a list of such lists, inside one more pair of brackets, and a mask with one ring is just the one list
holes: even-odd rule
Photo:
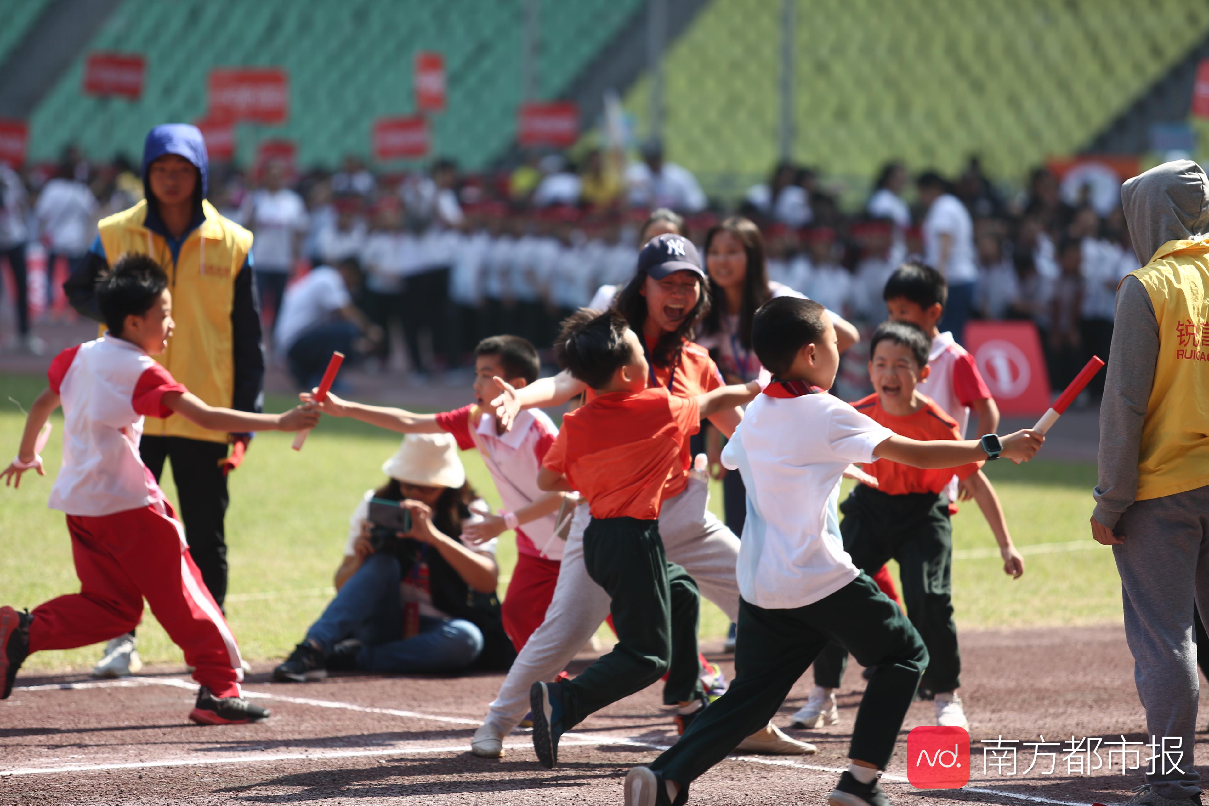
[[[206, 220], [189, 233], [173, 266], [172, 251], [163, 236], [143, 226], [146, 211], [146, 201], [143, 201], [102, 219], [98, 228], [105, 259], [112, 266], [126, 254], [150, 255], [168, 272], [172, 318], [177, 327], [163, 354], [154, 358], [204, 402], [230, 408], [235, 394], [231, 332], [235, 278], [251, 249], [251, 233], [203, 201]], [[207, 430], [179, 414], [167, 419], [147, 417], [143, 433], [207, 442], [230, 441], [229, 434]]]

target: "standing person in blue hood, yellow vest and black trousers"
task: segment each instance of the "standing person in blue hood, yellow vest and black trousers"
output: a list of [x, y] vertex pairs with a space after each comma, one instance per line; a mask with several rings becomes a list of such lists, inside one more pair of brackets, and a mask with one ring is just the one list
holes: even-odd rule
[[[123, 254], [150, 255], [168, 272], [177, 321], [167, 349], [155, 359], [207, 404], [259, 412], [265, 354], [251, 233], [206, 201], [208, 169], [196, 126], [151, 129], [143, 146], [146, 198], [102, 219], [87, 259], [63, 290], [76, 311], [99, 321], [94, 289], [100, 273]], [[247, 446], [250, 436], [209, 431], [177, 416], [147, 417], [139, 446], [157, 481], [164, 460], [172, 462], [190, 552], [220, 607], [227, 586], [227, 452], [231, 442]], [[109, 643], [94, 674], [118, 677], [139, 667], [132, 633]]]

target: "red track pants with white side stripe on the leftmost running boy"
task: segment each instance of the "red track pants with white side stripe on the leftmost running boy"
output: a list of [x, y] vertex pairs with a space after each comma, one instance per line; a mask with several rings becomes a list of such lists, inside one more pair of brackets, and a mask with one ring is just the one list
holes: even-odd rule
[[239, 648], [189, 555], [167, 501], [100, 517], [68, 516], [80, 592], [39, 605], [29, 650], [74, 649], [129, 632], [143, 598], [216, 697], [239, 696]]

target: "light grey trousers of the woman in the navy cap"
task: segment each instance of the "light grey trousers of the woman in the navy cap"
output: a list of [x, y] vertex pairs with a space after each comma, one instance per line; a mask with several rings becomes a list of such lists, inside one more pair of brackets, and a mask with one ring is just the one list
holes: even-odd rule
[[[739, 615], [735, 580], [739, 538], [708, 511], [708, 483], [689, 477], [684, 492], [664, 501], [659, 535], [667, 559], [683, 567], [696, 580], [701, 596], [734, 621]], [[501, 733], [507, 735], [525, 717], [530, 688], [538, 680], [553, 680], [565, 669], [608, 616], [608, 593], [591, 580], [584, 567], [584, 529], [589, 520], [588, 508], [580, 506], [567, 537], [559, 584], [545, 620], [513, 661], [496, 701], [487, 709], [487, 721]]]

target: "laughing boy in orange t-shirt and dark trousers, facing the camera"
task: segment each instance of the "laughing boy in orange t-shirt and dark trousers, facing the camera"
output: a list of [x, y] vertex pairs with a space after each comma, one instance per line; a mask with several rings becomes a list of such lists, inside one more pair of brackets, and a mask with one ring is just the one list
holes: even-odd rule
[[[852, 406], [901, 436], [915, 440], [960, 440], [958, 423], [919, 392], [929, 376], [927, 337], [915, 325], [886, 321], [873, 334], [869, 347], [869, 379], [874, 394]], [[924, 638], [931, 659], [921, 688], [936, 695], [936, 724], [968, 730], [961, 700], [961, 657], [958, 628], [953, 622], [951, 579], [953, 527], [949, 501], [941, 493], [956, 475], [968, 481], [974, 500], [990, 524], [1003, 573], [1019, 579], [1024, 558], [1012, 545], [1003, 510], [980, 462], [953, 470], [921, 470], [890, 459], [864, 466], [877, 487], [857, 485], [840, 505], [844, 551], [866, 573], [898, 561], [907, 615]], [[839, 721], [833, 694], [844, 677], [848, 653], [832, 643], [815, 661], [815, 689], [794, 724], [803, 727]], [[799, 719], [800, 717], [800, 719]]]

